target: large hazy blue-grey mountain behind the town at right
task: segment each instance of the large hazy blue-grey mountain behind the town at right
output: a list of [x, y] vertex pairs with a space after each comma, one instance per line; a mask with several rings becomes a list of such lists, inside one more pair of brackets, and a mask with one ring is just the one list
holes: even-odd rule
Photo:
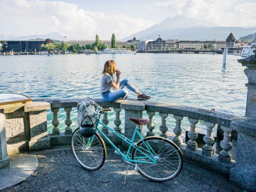
[[[185, 16], [176, 16], [167, 18], [160, 24], [156, 24], [144, 31], [136, 34], [136, 39], [153, 39], [156, 40], [159, 35], [164, 40], [225, 40], [230, 33], [238, 40], [239, 37], [246, 34], [255, 33], [256, 28], [242, 27], [220, 27], [206, 20], [196, 20]], [[122, 40], [132, 39], [134, 35]]]

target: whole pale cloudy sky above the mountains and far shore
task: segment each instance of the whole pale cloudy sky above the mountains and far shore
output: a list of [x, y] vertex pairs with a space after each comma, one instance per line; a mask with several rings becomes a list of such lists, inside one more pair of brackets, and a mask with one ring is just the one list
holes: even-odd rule
[[0, 0], [0, 34], [58, 32], [73, 40], [122, 39], [184, 15], [220, 26], [256, 26], [256, 0]]

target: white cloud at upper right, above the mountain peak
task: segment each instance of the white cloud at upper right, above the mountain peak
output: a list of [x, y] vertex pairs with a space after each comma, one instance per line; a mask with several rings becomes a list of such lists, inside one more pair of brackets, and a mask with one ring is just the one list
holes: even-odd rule
[[220, 26], [255, 26], [256, 2], [249, 0], [169, 0], [147, 4], [149, 8], [168, 8], [169, 17], [185, 15], [206, 19]]

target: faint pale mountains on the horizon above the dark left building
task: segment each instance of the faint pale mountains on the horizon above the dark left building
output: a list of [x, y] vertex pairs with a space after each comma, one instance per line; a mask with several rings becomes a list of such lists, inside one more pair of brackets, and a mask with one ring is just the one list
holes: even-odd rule
[[0, 40], [30, 40], [30, 39], [47, 39], [47, 38], [59, 40], [59, 41], [64, 40], [64, 37], [62, 37], [59, 33], [47, 33], [43, 35], [29, 35], [29, 36], [19, 36], [19, 37], [0, 35]]

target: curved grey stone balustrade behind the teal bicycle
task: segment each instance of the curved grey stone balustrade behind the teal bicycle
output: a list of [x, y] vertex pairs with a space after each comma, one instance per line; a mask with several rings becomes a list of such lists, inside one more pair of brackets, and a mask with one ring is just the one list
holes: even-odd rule
[[[51, 145], [61, 145], [69, 144], [70, 137], [72, 134], [72, 120], [70, 118], [70, 112], [72, 108], [77, 107], [77, 103], [83, 101], [84, 99], [41, 99], [35, 100], [40, 102], [47, 102], [51, 104], [51, 111], [53, 113], [52, 120], [52, 134], [49, 134]], [[171, 139], [176, 145], [178, 145], [182, 151], [185, 160], [192, 163], [200, 164], [205, 168], [210, 168], [221, 174], [229, 175], [229, 171], [235, 166], [235, 161], [232, 160], [230, 150], [232, 149], [232, 143], [230, 141], [232, 129], [230, 128], [230, 123], [232, 121], [240, 121], [245, 119], [245, 117], [237, 117], [225, 113], [214, 112], [210, 110], [204, 110], [194, 107], [178, 106], [166, 103], [154, 103], [149, 101], [137, 101], [137, 100], [119, 100], [115, 103], [106, 103], [102, 99], [93, 99], [103, 108], [113, 109], [115, 113], [114, 120], [114, 130], [120, 132], [126, 137], [132, 137], [135, 124], [128, 120], [129, 117], [134, 118], [149, 118], [149, 123], [147, 125], [146, 136], [157, 136], [155, 130], [157, 128], [154, 125], [154, 118], [157, 113], [161, 118], [161, 125], [159, 127], [161, 137]], [[65, 131], [60, 132], [58, 112], [60, 108], [64, 108], [66, 112], [65, 119]], [[125, 122], [120, 121], [120, 113], [124, 111]], [[148, 117], [143, 117], [143, 111], [146, 111]], [[173, 129], [173, 133], [169, 133], [167, 127], [167, 121], [169, 121], [168, 116], [173, 115], [176, 121], [176, 126]], [[188, 132], [189, 140], [185, 142], [181, 135], [183, 130], [181, 128], [181, 123], [184, 117], [188, 118], [190, 124], [190, 131]], [[206, 126], [206, 135], [203, 137], [205, 144], [202, 148], [198, 147], [196, 141], [198, 137], [197, 124], [198, 121], [203, 121]], [[108, 124], [108, 113], [103, 114], [102, 122]], [[213, 128], [218, 125], [221, 130], [223, 130], [223, 140], [220, 141], [221, 151], [219, 154], [214, 153], [212, 147], [214, 143]], [[124, 127], [124, 132], [121, 132], [121, 127]], [[108, 130], [102, 130], [108, 137], [116, 144], [121, 145], [121, 141], [117, 137], [108, 133]], [[168, 137], [168, 135], [174, 135], [174, 137]], [[125, 144], [122, 144], [125, 147]]]

